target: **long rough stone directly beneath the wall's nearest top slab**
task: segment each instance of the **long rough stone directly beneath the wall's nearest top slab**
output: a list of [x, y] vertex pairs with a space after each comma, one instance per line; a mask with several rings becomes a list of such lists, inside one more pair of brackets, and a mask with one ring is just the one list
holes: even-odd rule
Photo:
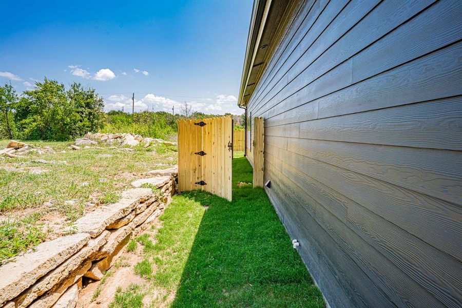
[[89, 240], [88, 244], [78, 253], [67, 259], [63, 264], [53, 269], [53, 271], [42, 277], [23, 292], [23, 294], [15, 300], [17, 307], [28, 306], [37, 297], [51, 290], [53, 286], [59, 284], [63, 278], [69, 276], [73, 271], [78, 269], [84, 260], [87, 258], [89, 258], [90, 261], [93, 260], [95, 254], [97, 254], [99, 249], [109, 239], [109, 235], [110, 233], [105, 231], [99, 237]]

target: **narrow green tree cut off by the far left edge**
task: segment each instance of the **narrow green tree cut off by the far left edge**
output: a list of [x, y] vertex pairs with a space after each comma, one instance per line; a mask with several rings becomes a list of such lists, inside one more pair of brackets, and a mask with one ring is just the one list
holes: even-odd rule
[[11, 82], [0, 86], [0, 112], [2, 113], [2, 121], [0, 122], [0, 137], [14, 137], [14, 118], [13, 109], [17, 104], [17, 94]]

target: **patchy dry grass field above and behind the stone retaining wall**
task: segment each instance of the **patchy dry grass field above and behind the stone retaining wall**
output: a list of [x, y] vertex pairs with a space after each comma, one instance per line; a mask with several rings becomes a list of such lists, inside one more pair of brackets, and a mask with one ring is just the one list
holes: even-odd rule
[[[0, 148], [7, 143], [0, 140]], [[18, 240], [11, 237], [16, 234], [11, 232], [11, 222], [24, 225], [25, 219], [31, 221], [31, 227], [41, 226], [47, 239], [61, 235], [64, 226], [86, 211], [117, 201], [133, 179], [144, 177], [149, 170], [177, 164], [175, 147], [166, 145], [125, 151], [108, 146], [72, 150], [70, 142], [26, 143], [43, 153], [31, 151], [17, 158], [0, 158], [0, 236], [8, 234], [4, 241]], [[11, 254], [16, 253], [2, 254], [0, 249], [0, 261]]]

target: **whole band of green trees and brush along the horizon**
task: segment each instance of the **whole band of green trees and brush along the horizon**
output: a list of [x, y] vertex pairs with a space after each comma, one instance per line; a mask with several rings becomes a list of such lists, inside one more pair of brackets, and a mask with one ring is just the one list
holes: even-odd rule
[[[186, 118], [164, 111], [106, 113], [103, 108], [103, 99], [95, 89], [80, 83], [66, 89], [63, 84], [45, 78], [21, 96], [7, 83], [0, 86], [0, 139], [71, 140], [89, 131], [132, 132], [171, 139], [177, 134], [178, 120]], [[216, 116], [189, 111], [189, 119]], [[242, 127], [243, 115], [234, 115], [234, 120], [235, 128]]]

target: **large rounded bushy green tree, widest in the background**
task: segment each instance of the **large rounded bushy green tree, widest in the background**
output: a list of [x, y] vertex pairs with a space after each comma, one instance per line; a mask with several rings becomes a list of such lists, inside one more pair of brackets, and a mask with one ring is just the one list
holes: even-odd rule
[[103, 127], [103, 100], [94, 89], [73, 83], [44, 79], [25, 91], [18, 102], [15, 119], [24, 139], [69, 140]]

